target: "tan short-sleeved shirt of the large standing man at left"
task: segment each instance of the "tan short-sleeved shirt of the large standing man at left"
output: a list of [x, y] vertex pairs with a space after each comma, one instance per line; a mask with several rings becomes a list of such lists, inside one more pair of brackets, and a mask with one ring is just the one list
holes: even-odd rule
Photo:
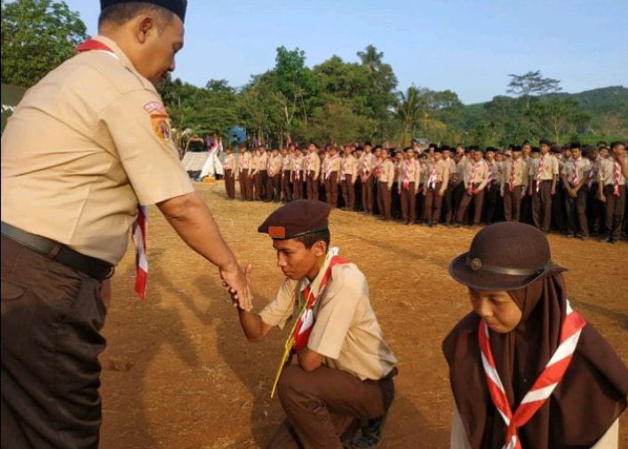
[[155, 87], [110, 39], [27, 91], [2, 137], [2, 220], [117, 264], [138, 204], [194, 192]]

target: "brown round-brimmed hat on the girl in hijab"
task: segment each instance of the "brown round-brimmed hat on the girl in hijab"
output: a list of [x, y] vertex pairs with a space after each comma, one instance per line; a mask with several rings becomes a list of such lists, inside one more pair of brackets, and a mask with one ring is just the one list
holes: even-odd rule
[[478, 290], [517, 290], [545, 272], [564, 271], [553, 264], [545, 234], [516, 222], [489, 225], [478, 232], [469, 251], [449, 264], [449, 274]]

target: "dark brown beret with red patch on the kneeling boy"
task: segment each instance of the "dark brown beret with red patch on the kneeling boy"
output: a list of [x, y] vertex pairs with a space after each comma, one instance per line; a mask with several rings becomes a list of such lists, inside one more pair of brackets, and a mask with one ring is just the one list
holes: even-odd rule
[[258, 227], [272, 239], [288, 240], [328, 229], [330, 205], [318, 200], [290, 201], [270, 214]]

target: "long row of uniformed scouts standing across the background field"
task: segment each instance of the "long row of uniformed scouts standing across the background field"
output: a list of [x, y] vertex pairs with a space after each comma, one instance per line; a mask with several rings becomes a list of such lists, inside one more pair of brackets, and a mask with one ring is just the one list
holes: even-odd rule
[[[236, 157], [236, 154], [238, 157]], [[416, 143], [404, 149], [345, 145], [281, 151], [227, 148], [225, 185], [243, 201], [314, 199], [406, 225], [521, 221], [568, 238], [626, 237], [624, 142], [556, 146], [542, 139], [501, 151]]]

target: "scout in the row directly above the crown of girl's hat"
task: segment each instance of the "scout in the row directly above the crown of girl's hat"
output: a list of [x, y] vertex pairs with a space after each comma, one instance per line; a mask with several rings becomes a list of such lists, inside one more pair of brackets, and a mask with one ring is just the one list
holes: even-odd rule
[[504, 198], [506, 221], [519, 221], [521, 199], [528, 190], [528, 164], [521, 157], [521, 146], [513, 146], [513, 157], [504, 162], [504, 174], [499, 187]]

